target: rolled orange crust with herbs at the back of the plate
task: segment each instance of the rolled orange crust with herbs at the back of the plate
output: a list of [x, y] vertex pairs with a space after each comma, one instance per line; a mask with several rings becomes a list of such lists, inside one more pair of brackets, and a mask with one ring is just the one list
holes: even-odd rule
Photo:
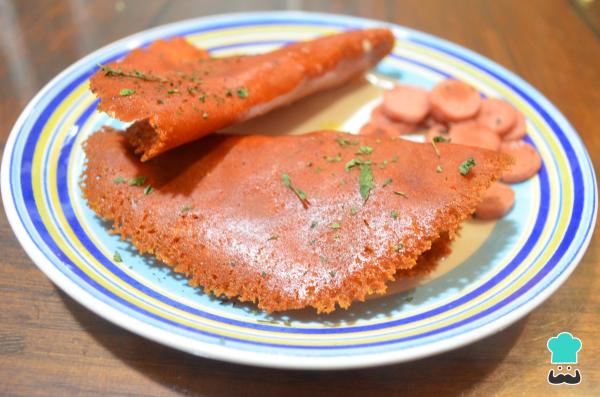
[[388, 29], [348, 31], [265, 54], [210, 58], [181, 38], [159, 40], [92, 76], [98, 109], [136, 121], [146, 161], [211, 132], [348, 81], [392, 49]]

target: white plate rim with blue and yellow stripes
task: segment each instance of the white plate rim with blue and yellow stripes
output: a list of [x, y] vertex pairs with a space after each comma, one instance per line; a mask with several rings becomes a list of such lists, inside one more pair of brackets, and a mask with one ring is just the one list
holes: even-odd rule
[[[81, 157], [80, 132], [95, 115], [96, 101], [91, 94], [86, 96], [85, 85], [97, 63], [171, 36], [213, 43], [207, 46], [218, 52], [372, 26], [390, 27], [397, 36], [390, 64], [402, 62], [440, 77], [473, 79], [471, 83], [481, 84], [482, 91], [483, 87], [496, 90], [513, 102], [533, 126], [528, 140], [544, 161], [540, 175], [531, 182], [540, 202], [526, 228], [529, 233], [497, 271], [464, 294], [414, 313], [348, 326], [282, 326], [199, 307], [153, 290], [97, 246], [93, 231], [89, 234], [89, 225], [81, 222], [72, 171], [74, 159]], [[351, 368], [408, 361], [497, 332], [533, 310], [564, 282], [589, 244], [597, 213], [596, 179], [579, 137], [564, 116], [519, 77], [431, 35], [378, 21], [304, 12], [182, 21], [135, 34], [86, 56], [49, 82], [23, 111], [4, 151], [1, 183], [9, 222], [25, 251], [60, 288], [89, 309], [183, 351], [281, 368]]]

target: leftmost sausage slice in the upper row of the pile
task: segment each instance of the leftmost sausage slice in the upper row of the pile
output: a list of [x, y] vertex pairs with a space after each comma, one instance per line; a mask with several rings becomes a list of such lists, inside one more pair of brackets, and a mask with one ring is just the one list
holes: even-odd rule
[[419, 87], [398, 85], [383, 94], [383, 111], [395, 121], [417, 124], [429, 114], [429, 93]]

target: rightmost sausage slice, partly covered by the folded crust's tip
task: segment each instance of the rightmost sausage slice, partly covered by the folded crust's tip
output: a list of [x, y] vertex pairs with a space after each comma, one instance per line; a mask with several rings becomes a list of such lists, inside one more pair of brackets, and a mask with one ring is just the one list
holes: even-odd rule
[[500, 151], [515, 159], [512, 168], [502, 175], [504, 182], [522, 182], [537, 174], [542, 166], [542, 158], [538, 152], [523, 140], [502, 142]]

